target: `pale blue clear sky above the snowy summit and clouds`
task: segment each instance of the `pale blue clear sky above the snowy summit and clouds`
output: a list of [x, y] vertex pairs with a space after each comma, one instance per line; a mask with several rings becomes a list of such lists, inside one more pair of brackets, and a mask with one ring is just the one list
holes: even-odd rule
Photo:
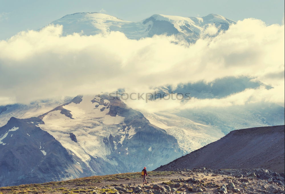
[[284, 0], [0, 0], [0, 40], [23, 30], [39, 29], [67, 14], [100, 11], [128, 21], [140, 21], [152, 14], [202, 17], [215, 13], [234, 21], [257, 18], [270, 25], [282, 23]]

